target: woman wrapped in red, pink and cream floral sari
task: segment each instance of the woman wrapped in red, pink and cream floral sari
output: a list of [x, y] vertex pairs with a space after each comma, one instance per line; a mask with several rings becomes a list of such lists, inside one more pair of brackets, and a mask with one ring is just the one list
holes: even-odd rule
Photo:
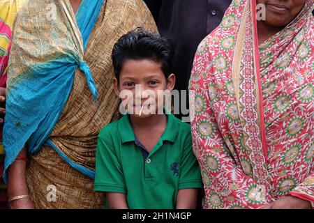
[[204, 208], [311, 208], [312, 10], [313, 0], [234, 0], [200, 43], [190, 112]]

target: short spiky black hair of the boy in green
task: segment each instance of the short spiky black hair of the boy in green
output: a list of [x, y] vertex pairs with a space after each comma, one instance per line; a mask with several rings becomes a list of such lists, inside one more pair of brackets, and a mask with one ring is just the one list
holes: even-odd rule
[[167, 79], [172, 73], [172, 46], [166, 38], [137, 28], [122, 36], [112, 49], [114, 75], [118, 79], [122, 66], [128, 59], [149, 59], [161, 63], [161, 70]]

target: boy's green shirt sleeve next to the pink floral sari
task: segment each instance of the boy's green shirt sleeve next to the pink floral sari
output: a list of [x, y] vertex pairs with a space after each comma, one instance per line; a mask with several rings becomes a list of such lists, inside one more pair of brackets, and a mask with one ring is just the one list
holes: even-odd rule
[[200, 167], [193, 153], [192, 137], [190, 134], [188, 134], [184, 143], [179, 173], [179, 190], [203, 187]]

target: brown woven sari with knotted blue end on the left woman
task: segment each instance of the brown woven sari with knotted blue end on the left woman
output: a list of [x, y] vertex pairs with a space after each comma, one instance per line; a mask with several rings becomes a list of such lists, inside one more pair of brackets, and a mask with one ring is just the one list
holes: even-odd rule
[[140, 0], [83, 0], [76, 15], [68, 0], [23, 7], [8, 70], [6, 169], [27, 144], [35, 208], [101, 208], [97, 135], [119, 117], [112, 47], [137, 26], [157, 31], [156, 24]]

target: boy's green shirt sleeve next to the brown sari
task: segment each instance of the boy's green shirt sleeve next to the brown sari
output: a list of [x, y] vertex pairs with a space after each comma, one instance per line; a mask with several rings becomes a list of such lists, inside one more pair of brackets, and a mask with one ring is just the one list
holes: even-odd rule
[[121, 163], [114, 146], [98, 137], [96, 148], [96, 192], [126, 193], [126, 183]]

